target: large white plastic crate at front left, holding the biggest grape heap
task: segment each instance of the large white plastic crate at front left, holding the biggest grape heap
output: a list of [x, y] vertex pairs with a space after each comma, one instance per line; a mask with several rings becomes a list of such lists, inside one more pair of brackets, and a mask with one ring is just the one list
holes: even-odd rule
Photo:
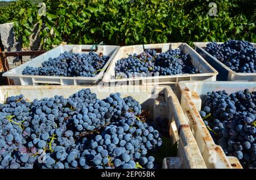
[[[0, 102], [5, 101], [7, 96], [20, 95], [21, 93], [28, 101], [55, 95], [69, 97], [82, 88], [90, 88], [92, 92], [97, 93], [98, 98], [105, 98], [110, 93], [121, 92], [122, 97], [132, 96], [139, 101], [142, 109], [150, 111], [151, 118], [168, 118], [170, 138], [173, 143], [179, 140], [177, 158], [180, 165], [164, 163], [163, 168], [206, 168], [179, 101], [168, 86], [2, 86], [0, 87]], [[172, 162], [176, 163], [176, 161]], [[166, 158], [164, 162], [166, 162]]]

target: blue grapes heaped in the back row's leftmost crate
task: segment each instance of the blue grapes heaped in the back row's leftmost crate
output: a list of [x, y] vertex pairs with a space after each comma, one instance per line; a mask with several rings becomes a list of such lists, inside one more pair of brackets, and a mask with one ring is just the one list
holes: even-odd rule
[[89, 54], [75, 54], [64, 52], [56, 58], [49, 58], [42, 63], [42, 67], [27, 66], [22, 71], [23, 75], [41, 76], [84, 76], [94, 77], [108, 61], [106, 55], [98, 55], [94, 52]]

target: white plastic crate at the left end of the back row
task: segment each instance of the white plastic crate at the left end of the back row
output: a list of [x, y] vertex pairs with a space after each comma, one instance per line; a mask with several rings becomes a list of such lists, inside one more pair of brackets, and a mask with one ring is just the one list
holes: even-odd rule
[[[97, 47], [97, 48], [96, 48]], [[119, 46], [111, 45], [59, 45], [54, 49], [47, 51], [39, 55], [38, 57], [32, 59], [13, 68], [3, 74], [14, 81], [14, 85], [38, 85], [38, 84], [59, 84], [59, 85], [86, 85], [86, 84], [96, 84], [104, 75], [104, 70], [100, 71], [94, 77], [64, 77], [64, 76], [35, 76], [35, 75], [22, 75], [22, 71], [26, 66], [40, 67], [42, 62], [48, 61], [49, 58], [55, 58], [64, 53], [65, 51], [70, 53], [88, 53], [90, 50], [96, 51], [97, 54], [102, 53], [108, 55], [110, 58], [108, 62], [104, 65], [102, 69], [106, 69], [112, 61], [115, 53], [117, 52]]]

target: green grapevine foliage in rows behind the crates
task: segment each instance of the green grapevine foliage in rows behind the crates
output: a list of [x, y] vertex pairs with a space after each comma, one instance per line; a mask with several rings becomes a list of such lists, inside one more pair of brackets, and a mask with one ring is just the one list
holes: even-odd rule
[[[221, 0], [217, 16], [209, 16], [207, 1], [166, 0], [44, 0], [46, 16], [30, 1], [0, 8], [0, 23], [15, 22], [23, 47], [30, 45], [32, 29], [39, 28], [42, 49], [61, 42], [112, 45], [158, 42], [226, 41], [255, 42], [255, 1]], [[244, 8], [247, 6], [248, 8]]]

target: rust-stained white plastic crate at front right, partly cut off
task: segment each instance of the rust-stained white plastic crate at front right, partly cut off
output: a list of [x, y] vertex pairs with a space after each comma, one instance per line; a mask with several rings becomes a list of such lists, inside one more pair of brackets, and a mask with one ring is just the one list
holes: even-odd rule
[[199, 111], [207, 92], [226, 90], [228, 93], [244, 89], [256, 91], [256, 82], [179, 82], [181, 107], [188, 119], [197, 145], [208, 168], [242, 168], [236, 157], [226, 156], [216, 145], [201, 118]]

